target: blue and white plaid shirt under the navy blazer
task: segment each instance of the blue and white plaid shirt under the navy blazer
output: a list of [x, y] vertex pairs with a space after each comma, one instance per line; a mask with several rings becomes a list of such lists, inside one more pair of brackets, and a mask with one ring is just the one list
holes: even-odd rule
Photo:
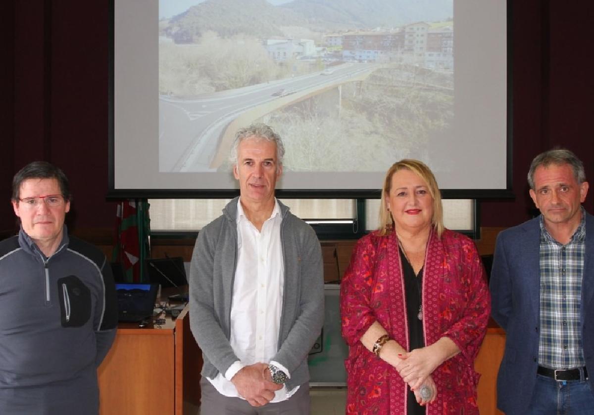
[[555, 241], [541, 216], [541, 332], [538, 364], [551, 369], [584, 366], [580, 305], [586, 251], [586, 215], [567, 245]]

